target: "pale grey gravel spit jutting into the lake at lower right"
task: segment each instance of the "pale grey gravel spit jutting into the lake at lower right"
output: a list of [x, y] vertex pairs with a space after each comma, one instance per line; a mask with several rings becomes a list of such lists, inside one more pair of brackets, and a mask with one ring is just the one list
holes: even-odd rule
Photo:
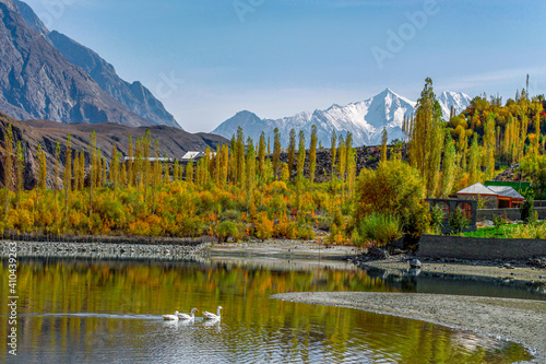
[[546, 302], [376, 292], [283, 293], [271, 298], [356, 308], [400, 316], [512, 340], [546, 363]]

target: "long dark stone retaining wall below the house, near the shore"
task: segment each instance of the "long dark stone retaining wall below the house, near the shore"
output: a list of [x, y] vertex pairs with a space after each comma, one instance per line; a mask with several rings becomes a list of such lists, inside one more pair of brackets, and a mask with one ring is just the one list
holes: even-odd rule
[[435, 259], [527, 259], [546, 256], [546, 240], [423, 235], [417, 256]]

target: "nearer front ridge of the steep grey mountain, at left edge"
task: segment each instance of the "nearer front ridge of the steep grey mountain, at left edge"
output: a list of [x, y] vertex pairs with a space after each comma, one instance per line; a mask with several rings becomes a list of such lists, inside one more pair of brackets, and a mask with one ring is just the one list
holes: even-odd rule
[[0, 109], [17, 118], [62, 122], [151, 121], [104, 92], [26, 25], [13, 0], [0, 0]]

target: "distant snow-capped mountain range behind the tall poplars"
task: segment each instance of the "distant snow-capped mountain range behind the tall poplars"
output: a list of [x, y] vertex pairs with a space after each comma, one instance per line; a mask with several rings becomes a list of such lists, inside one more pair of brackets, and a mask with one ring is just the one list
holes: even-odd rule
[[[451, 106], [458, 113], [470, 104], [470, 97], [462, 93], [444, 92], [438, 99], [449, 118]], [[333, 105], [325, 110], [304, 111], [282, 119], [261, 119], [250, 111], [240, 111], [233, 118], [224, 121], [213, 133], [232, 138], [240, 126], [245, 136], [257, 142], [262, 131], [265, 138], [273, 143], [274, 130], [281, 132], [281, 144], [286, 148], [289, 142], [290, 129], [297, 133], [304, 130], [306, 141], [309, 143], [311, 127], [317, 126], [318, 139], [322, 145], [330, 146], [332, 130], [346, 137], [353, 134], [353, 145], [377, 145], [381, 143], [383, 128], [389, 136], [389, 141], [403, 138], [402, 124], [404, 115], [411, 117], [415, 113], [416, 103], [400, 96], [387, 89], [382, 93], [346, 106]], [[447, 113], [446, 113], [447, 110]]]

